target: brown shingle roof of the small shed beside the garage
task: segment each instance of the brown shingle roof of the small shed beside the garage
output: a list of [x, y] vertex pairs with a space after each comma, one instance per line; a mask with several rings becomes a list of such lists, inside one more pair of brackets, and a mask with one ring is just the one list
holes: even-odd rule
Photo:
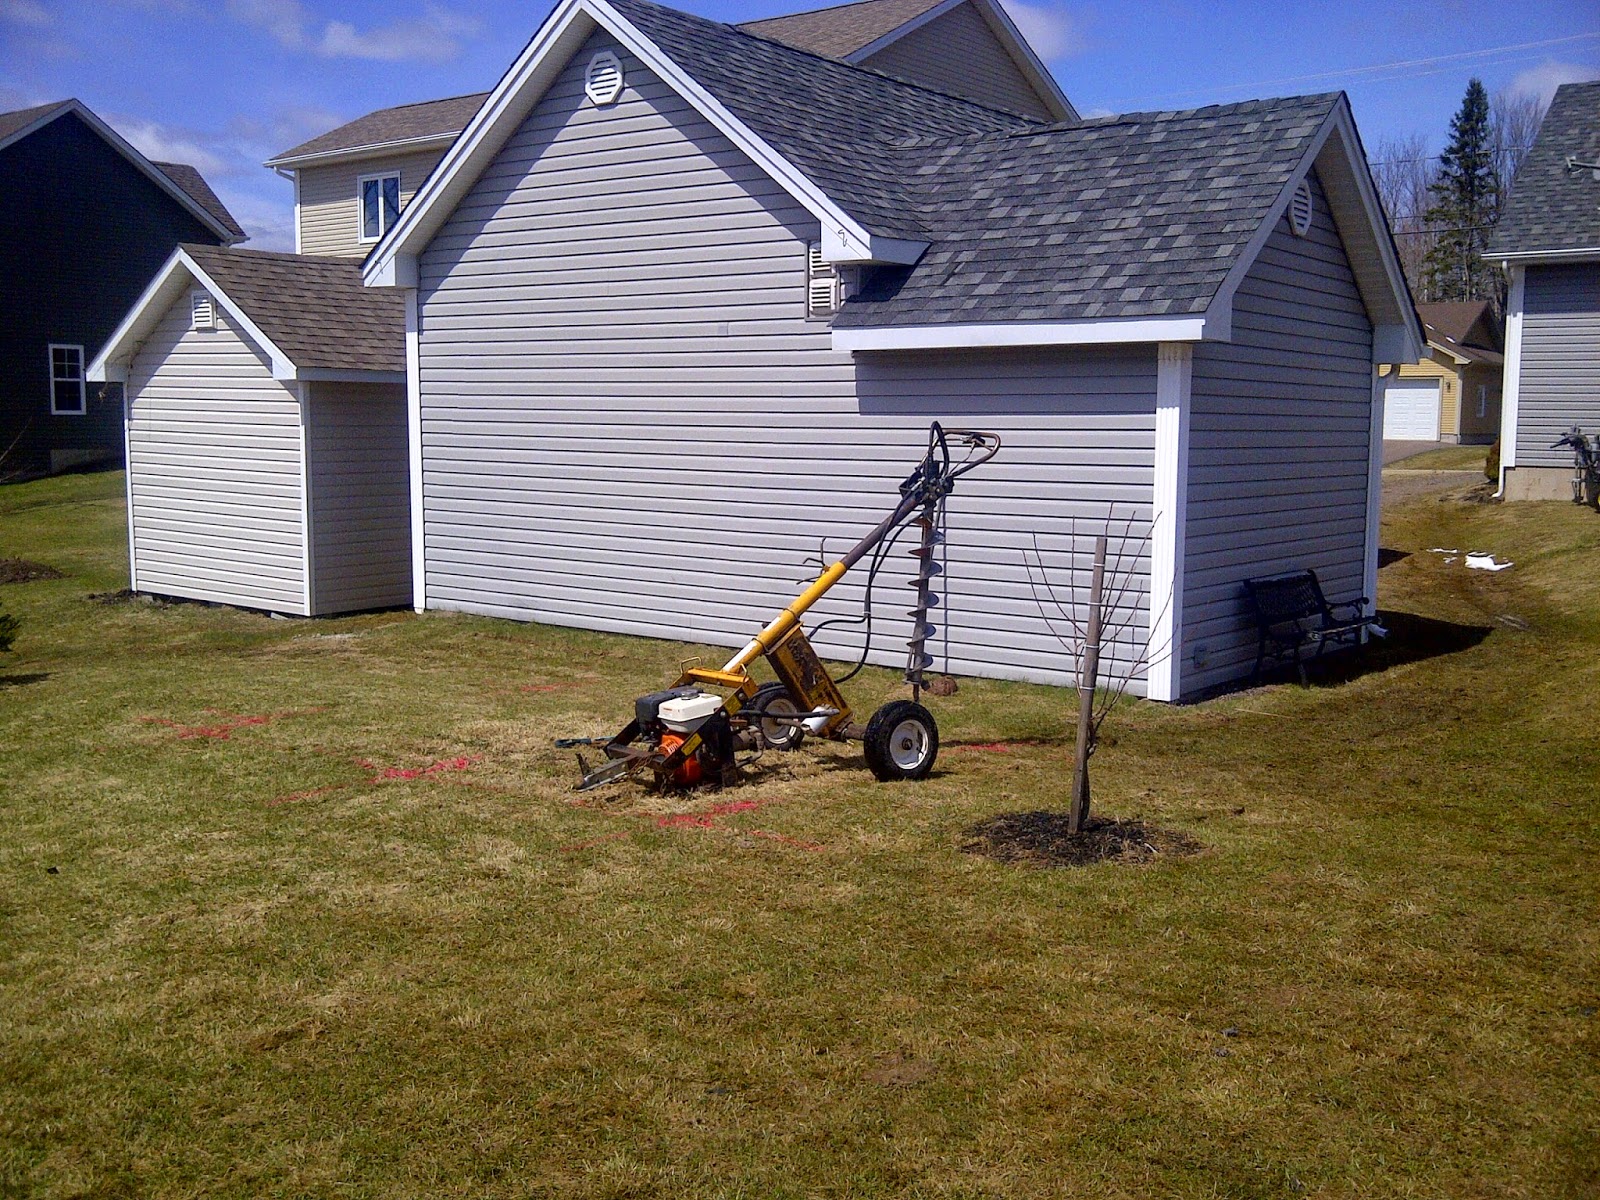
[[405, 291], [362, 286], [360, 259], [182, 250], [296, 366], [405, 370]]

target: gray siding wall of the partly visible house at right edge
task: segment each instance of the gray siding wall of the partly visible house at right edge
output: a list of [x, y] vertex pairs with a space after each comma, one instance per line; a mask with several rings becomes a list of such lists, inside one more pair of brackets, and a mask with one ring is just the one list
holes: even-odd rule
[[1517, 466], [1571, 467], [1555, 440], [1574, 424], [1600, 432], [1600, 262], [1526, 272]]

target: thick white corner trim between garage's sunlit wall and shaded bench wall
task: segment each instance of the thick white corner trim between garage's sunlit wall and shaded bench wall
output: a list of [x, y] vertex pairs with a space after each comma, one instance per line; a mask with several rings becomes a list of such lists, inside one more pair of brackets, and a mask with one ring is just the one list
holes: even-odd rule
[[1194, 346], [1162, 342], [1155, 368], [1155, 488], [1150, 525], [1150, 642], [1146, 696], [1182, 690], [1184, 531], [1189, 523], [1189, 394]]

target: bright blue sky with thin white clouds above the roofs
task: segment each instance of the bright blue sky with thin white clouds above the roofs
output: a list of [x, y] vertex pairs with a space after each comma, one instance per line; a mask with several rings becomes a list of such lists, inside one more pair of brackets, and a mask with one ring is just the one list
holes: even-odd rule
[[[675, 0], [720, 21], [806, 0]], [[1370, 147], [1443, 144], [1467, 78], [1544, 98], [1600, 78], [1594, 0], [1006, 0], [1085, 114], [1346, 90]], [[272, 154], [371, 109], [485, 91], [549, 0], [0, 0], [0, 110], [77, 96], [155, 158], [205, 171], [250, 245], [288, 248]]]

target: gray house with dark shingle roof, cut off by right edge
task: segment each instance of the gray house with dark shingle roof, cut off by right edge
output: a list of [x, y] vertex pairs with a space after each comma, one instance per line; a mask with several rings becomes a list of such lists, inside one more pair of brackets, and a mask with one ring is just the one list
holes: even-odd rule
[[1600, 83], [1557, 88], [1485, 256], [1510, 274], [1501, 494], [1570, 499], [1552, 445], [1600, 434]]

